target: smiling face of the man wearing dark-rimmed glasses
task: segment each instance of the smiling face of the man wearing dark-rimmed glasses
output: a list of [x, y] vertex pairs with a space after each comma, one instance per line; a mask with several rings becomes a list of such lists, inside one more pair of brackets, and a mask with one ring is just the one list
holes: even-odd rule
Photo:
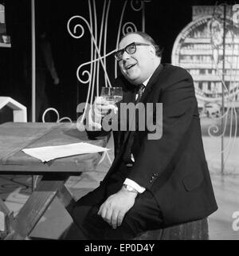
[[[139, 34], [129, 34], [119, 42], [119, 49], [124, 49], [132, 42], [140, 42], [150, 44], [145, 41]], [[142, 84], [153, 73], [153, 60], [155, 58], [155, 50], [152, 45], [136, 45], [136, 51], [129, 54], [123, 53], [122, 60], [119, 61], [119, 69], [123, 76], [133, 85]]]

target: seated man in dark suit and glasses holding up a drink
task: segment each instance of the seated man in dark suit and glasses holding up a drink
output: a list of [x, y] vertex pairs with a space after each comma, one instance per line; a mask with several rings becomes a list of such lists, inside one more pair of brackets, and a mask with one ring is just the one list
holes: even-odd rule
[[[114, 132], [112, 167], [70, 210], [82, 239], [131, 239], [217, 210], [190, 74], [161, 64], [158, 45], [141, 32], [121, 39], [116, 60], [123, 74], [122, 102], [162, 103], [163, 136], [149, 140], [147, 128]], [[100, 111], [106, 108], [96, 100], [92, 116], [104, 117]]]

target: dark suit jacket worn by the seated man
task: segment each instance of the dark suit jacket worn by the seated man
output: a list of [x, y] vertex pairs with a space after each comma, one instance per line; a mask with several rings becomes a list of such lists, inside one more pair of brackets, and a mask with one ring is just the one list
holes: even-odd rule
[[[120, 78], [123, 102], [135, 100], [135, 87]], [[103, 182], [119, 169], [130, 136], [135, 136], [135, 164], [127, 178], [155, 196], [164, 226], [203, 219], [217, 210], [198, 115], [194, 82], [185, 69], [160, 64], [141, 102], [163, 103], [163, 136], [148, 140], [149, 131], [114, 132], [115, 160]], [[156, 115], [155, 107], [153, 115]], [[119, 115], [120, 116], [120, 115]], [[146, 116], [147, 118], [147, 116]]]

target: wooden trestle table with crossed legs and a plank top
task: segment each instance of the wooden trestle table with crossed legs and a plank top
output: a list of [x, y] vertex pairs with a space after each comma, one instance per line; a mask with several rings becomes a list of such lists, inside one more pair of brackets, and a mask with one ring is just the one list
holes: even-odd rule
[[64, 186], [70, 175], [93, 171], [100, 153], [69, 156], [42, 163], [22, 152], [23, 148], [57, 146], [88, 142], [105, 147], [107, 137], [88, 140], [86, 132], [79, 132], [76, 124], [56, 123], [6, 123], [0, 125], [0, 175], [41, 175], [36, 189], [29, 196], [18, 215], [0, 199], [0, 211], [7, 216], [8, 230], [5, 239], [25, 239], [41, 219], [57, 195], [65, 206], [72, 197]]

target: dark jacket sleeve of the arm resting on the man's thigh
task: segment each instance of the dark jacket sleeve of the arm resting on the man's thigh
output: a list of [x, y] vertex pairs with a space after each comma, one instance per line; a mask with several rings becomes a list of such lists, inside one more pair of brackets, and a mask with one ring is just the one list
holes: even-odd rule
[[144, 136], [135, 165], [127, 175], [128, 179], [148, 190], [167, 170], [179, 145], [183, 143], [197, 107], [190, 74], [184, 69], [176, 72], [179, 75], [172, 77], [171, 83], [167, 81], [159, 97], [163, 103], [163, 136], [159, 140], [148, 140]]

